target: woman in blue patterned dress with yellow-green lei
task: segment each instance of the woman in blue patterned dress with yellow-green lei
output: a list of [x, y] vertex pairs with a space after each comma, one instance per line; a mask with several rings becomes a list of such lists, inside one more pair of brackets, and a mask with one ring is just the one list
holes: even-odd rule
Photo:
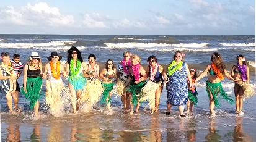
[[180, 51], [176, 51], [173, 57], [173, 61], [167, 65], [167, 111], [166, 115], [170, 115], [170, 108], [172, 106], [178, 106], [181, 117], [183, 115], [185, 104], [188, 101], [188, 84], [189, 88], [192, 86], [191, 75], [187, 63], [184, 61], [185, 54]]

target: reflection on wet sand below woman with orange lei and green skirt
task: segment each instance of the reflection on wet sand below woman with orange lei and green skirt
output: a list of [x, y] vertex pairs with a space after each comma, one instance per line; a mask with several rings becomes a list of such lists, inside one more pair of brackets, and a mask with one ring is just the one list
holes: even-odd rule
[[219, 130], [215, 129], [215, 120], [213, 118], [210, 119], [209, 125], [209, 133], [205, 136], [207, 141], [220, 141], [221, 135], [219, 135]]

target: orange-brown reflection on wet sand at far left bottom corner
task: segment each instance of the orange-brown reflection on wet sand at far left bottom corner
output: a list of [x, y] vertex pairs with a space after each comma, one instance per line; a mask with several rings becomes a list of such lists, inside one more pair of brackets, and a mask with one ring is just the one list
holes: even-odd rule
[[20, 141], [20, 130], [19, 124], [10, 123], [9, 127], [7, 128], [7, 140], [8, 141]]

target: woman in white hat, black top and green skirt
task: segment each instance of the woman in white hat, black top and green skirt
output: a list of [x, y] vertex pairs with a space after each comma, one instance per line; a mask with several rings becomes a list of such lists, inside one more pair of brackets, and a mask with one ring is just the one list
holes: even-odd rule
[[29, 57], [29, 63], [24, 65], [22, 94], [29, 99], [30, 109], [34, 108], [35, 117], [38, 116], [39, 97], [42, 88], [42, 64], [37, 52], [32, 52]]

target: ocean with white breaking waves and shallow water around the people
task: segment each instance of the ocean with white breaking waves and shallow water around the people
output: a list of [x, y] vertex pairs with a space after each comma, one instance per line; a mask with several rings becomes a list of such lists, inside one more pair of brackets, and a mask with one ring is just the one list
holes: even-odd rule
[[[189, 68], [198, 75], [211, 62], [213, 52], [223, 57], [227, 71], [236, 64], [236, 56], [242, 54], [250, 69], [250, 83], [255, 90], [255, 36], [252, 35], [0, 35], [0, 52], [10, 57], [19, 53], [25, 64], [31, 52], [38, 52], [42, 62], [48, 62], [51, 52], [56, 51], [66, 60], [67, 51], [76, 46], [87, 61], [95, 54], [101, 68], [108, 59], [115, 65], [130, 51], [141, 57], [146, 69], [146, 59], [155, 55], [158, 63], [166, 66], [174, 52], [185, 53]], [[187, 117], [179, 117], [179, 109], [172, 107], [166, 116], [166, 87], [161, 94], [159, 113], [150, 114], [147, 102], [141, 104], [139, 114], [123, 113], [121, 98], [113, 94], [112, 112], [98, 103], [92, 109], [83, 104], [79, 114], [72, 114], [71, 107], [60, 117], [53, 117], [43, 107], [45, 96], [40, 98], [40, 117], [34, 119], [29, 101], [19, 94], [21, 114], [9, 114], [6, 98], [0, 96], [1, 141], [256, 141], [255, 96], [244, 101], [244, 115], [235, 114], [236, 106], [220, 100], [215, 107], [216, 117], [210, 117], [208, 96], [205, 90], [207, 77], [196, 86], [198, 106]], [[19, 78], [22, 86], [22, 77]], [[66, 78], [63, 78], [67, 83]], [[223, 89], [234, 97], [234, 83], [224, 78]], [[45, 80], [42, 91], [45, 94]]]

